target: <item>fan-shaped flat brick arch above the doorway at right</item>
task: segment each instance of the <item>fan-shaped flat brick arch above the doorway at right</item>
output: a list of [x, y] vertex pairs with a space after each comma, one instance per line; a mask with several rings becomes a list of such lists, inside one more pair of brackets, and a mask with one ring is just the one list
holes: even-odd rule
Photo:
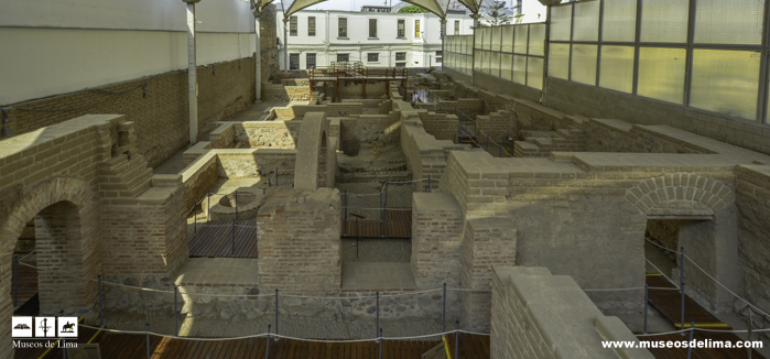
[[713, 216], [735, 200], [735, 193], [713, 178], [673, 173], [628, 188], [626, 198], [651, 216]]

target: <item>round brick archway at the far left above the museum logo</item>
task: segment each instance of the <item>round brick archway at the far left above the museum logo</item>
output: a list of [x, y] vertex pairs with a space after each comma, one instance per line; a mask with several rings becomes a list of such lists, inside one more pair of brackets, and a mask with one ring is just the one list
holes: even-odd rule
[[0, 308], [12, 306], [8, 293], [13, 248], [31, 218], [35, 220], [41, 314], [85, 309], [96, 297], [96, 283], [68, 275], [96, 279], [99, 271], [98, 198], [90, 185], [67, 177], [34, 187], [0, 219], [0, 293], [6, 293], [0, 295]]

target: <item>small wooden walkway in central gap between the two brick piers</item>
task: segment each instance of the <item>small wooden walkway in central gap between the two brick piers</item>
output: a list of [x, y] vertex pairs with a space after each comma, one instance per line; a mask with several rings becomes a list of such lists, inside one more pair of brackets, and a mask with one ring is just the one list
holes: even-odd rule
[[[382, 233], [384, 227], [384, 233]], [[384, 226], [381, 220], [356, 220], [348, 215], [343, 218], [343, 238], [412, 238], [412, 209], [386, 209]]]

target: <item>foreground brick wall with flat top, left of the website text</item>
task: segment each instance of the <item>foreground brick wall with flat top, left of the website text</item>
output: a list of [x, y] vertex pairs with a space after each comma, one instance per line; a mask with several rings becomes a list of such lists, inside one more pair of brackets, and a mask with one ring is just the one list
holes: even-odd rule
[[603, 340], [639, 339], [570, 276], [496, 265], [492, 278], [492, 358], [654, 358], [647, 349], [604, 348]]

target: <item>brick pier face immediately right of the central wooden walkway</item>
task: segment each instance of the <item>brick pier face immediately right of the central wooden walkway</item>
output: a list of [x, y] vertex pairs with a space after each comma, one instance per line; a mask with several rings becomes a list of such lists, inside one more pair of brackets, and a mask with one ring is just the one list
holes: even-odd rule
[[459, 286], [463, 213], [451, 194], [412, 196], [412, 272], [419, 289]]

